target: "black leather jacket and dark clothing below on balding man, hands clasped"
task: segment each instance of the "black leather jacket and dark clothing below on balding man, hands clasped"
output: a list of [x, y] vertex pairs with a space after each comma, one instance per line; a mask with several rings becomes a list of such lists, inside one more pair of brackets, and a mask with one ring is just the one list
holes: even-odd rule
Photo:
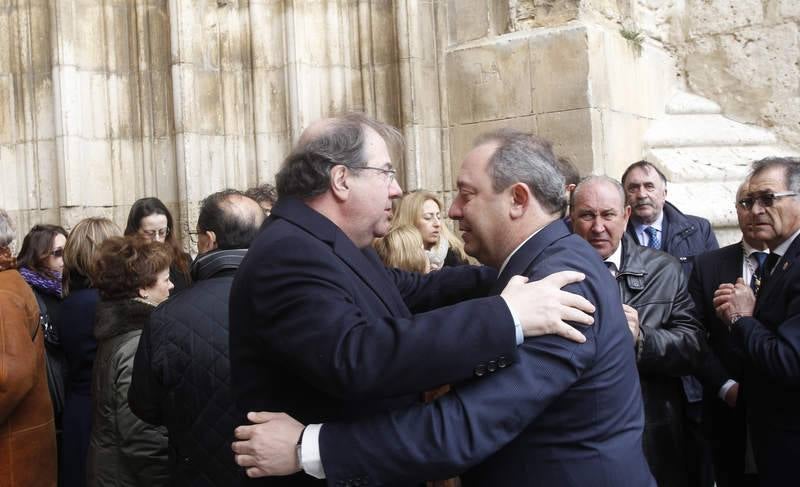
[[617, 283], [622, 302], [639, 313], [636, 361], [644, 400], [643, 447], [660, 487], [686, 484], [681, 375], [700, 358], [701, 325], [693, 316], [681, 264], [623, 236]]

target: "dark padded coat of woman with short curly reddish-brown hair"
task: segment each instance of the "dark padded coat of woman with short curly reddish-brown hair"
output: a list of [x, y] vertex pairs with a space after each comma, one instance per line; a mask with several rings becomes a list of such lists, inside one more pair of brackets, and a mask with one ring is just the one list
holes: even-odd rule
[[134, 416], [127, 400], [136, 346], [153, 309], [132, 299], [97, 304], [89, 486], [167, 484], [166, 431]]

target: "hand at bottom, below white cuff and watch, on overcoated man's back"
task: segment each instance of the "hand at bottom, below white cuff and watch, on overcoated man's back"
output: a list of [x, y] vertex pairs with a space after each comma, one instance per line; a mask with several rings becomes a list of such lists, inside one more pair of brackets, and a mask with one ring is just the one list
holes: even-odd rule
[[254, 424], [239, 426], [231, 449], [248, 477], [291, 475], [299, 472], [297, 440], [303, 425], [285, 413], [247, 413]]

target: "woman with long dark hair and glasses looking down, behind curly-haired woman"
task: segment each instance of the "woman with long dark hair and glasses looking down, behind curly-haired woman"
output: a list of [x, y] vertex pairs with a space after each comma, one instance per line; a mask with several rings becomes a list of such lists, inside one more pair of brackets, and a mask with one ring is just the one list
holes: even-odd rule
[[175, 221], [164, 203], [158, 198], [136, 200], [128, 213], [125, 236], [139, 235], [152, 242], [166, 242], [173, 252], [173, 264], [169, 278], [175, 285], [175, 292], [189, 287], [192, 283], [190, 267], [192, 258], [183, 251], [175, 237]]

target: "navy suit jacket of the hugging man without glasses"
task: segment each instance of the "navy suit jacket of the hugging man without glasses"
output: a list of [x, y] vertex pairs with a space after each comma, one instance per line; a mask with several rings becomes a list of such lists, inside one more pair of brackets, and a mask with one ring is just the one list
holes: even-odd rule
[[516, 274], [535, 280], [563, 270], [586, 273], [567, 289], [597, 306], [595, 324], [580, 327], [586, 343], [528, 339], [519, 363], [433, 403], [325, 424], [320, 451], [328, 482], [380, 485], [474, 467], [464, 485], [655, 486], [642, 453], [631, 336], [597, 252], [557, 220], [514, 254], [493, 292]]

